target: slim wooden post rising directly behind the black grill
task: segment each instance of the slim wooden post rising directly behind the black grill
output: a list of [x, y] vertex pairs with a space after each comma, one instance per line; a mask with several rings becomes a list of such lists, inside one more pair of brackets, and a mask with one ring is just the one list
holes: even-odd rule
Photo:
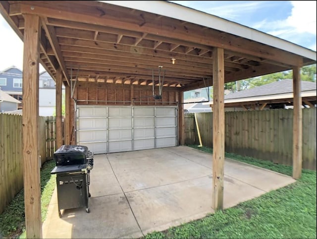
[[63, 144], [62, 125], [61, 125], [61, 85], [62, 72], [61, 69], [56, 71], [56, 149]]

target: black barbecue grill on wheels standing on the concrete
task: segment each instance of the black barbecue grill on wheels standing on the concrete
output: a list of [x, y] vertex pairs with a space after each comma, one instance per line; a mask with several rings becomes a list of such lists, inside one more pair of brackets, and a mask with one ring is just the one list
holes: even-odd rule
[[62, 145], [54, 153], [58, 214], [62, 209], [88, 207], [90, 171], [94, 167], [94, 153], [83, 145]]

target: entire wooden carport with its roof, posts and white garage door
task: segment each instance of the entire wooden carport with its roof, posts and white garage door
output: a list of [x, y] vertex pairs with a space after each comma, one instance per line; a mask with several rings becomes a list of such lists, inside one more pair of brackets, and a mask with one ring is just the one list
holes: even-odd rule
[[[1, 1], [0, 12], [24, 42], [27, 238], [42, 237], [39, 63], [56, 82], [59, 129], [65, 86], [64, 143], [99, 145], [95, 151], [182, 145], [182, 93], [212, 85], [215, 209], [223, 206], [224, 83], [292, 69], [293, 178], [300, 178], [300, 68], [316, 63], [316, 52], [167, 1]], [[56, 137], [61, 145], [60, 130]]]

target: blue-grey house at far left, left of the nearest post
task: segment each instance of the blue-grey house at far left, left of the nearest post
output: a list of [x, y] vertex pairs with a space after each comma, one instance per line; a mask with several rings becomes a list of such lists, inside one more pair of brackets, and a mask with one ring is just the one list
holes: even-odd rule
[[22, 109], [22, 70], [12, 65], [0, 71], [1, 90], [20, 101], [18, 109]]

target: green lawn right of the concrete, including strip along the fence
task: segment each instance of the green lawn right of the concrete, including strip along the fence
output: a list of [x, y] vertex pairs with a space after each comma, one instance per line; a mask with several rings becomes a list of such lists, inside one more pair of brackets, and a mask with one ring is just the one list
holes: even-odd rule
[[[206, 147], [191, 147], [211, 153]], [[227, 153], [225, 157], [292, 176], [289, 166]], [[310, 170], [303, 170], [302, 178], [286, 187], [203, 219], [145, 236], [146, 239], [316, 237], [316, 171]]]

